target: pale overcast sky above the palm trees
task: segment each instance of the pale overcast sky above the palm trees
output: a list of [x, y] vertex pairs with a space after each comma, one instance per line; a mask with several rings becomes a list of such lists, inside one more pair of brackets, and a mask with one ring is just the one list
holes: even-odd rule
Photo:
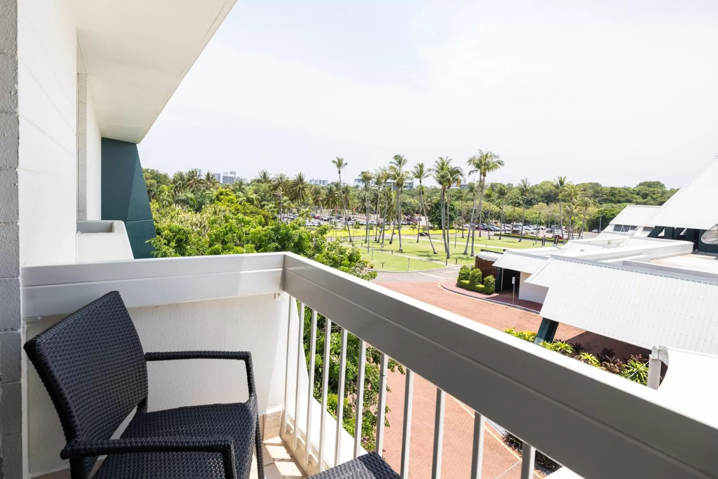
[[488, 149], [494, 181], [680, 187], [718, 154], [717, 47], [715, 0], [238, 0], [141, 161], [343, 180]]

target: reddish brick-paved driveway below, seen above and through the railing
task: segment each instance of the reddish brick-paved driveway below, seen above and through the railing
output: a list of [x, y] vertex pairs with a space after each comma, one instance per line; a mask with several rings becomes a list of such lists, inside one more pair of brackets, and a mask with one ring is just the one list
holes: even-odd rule
[[[383, 287], [406, 294], [409, 297], [444, 310], [455, 312], [482, 324], [503, 330], [538, 330], [541, 317], [531, 312], [518, 310], [503, 304], [483, 301], [449, 292], [439, 287], [439, 281], [429, 282], [377, 282]], [[561, 324], [556, 338], [580, 342], [589, 352], [598, 352], [603, 347], [614, 348], [617, 355], [628, 357], [630, 353], [645, 353], [633, 345], [620, 343], [595, 335], [577, 327]], [[401, 429], [404, 422], [404, 381], [401, 373], [389, 373], [387, 405], [391, 412], [387, 419], [391, 427], [386, 429], [384, 457], [396, 470], [401, 468]], [[425, 479], [432, 474], [432, 452], [434, 447], [434, 414], [436, 407], [436, 386], [426, 379], [414, 376], [414, 402], [411, 421], [411, 447], [409, 478]], [[485, 433], [484, 462], [482, 478], [518, 479], [521, 464], [518, 455], [500, 440], [500, 434], [487, 424]], [[442, 476], [444, 478], [469, 478], [471, 471], [471, 449], [473, 415], [452, 396], [447, 395], [444, 417], [444, 451]], [[502, 475], [503, 474], [503, 475]], [[541, 477], [536, 471], [536, 478]]]

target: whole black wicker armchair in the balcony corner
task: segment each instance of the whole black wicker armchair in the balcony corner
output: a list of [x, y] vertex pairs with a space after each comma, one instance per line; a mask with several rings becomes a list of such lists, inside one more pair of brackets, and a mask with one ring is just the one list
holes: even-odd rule
[[[25, 351], [50, 393], [73, 479], [247, 479], [252, 456], [264, 478], [252, 359], [247, 352], [144, 353], [118, 292], [97, 299], [27, 343]], [[249, 399], [147, 412], [147, 361], [244, 361]], [[121, 438], [113, 432], [134, 409]]]

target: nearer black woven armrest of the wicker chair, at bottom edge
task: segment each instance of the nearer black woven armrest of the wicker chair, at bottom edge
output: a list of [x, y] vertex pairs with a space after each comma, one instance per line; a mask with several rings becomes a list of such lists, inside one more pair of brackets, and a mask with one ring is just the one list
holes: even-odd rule
[[234, 443], [231, 437], [131, 437], [117, 440], [68, 442], [62, 459], [139, 452], [218, 452], [226, 479], [237, 479]]

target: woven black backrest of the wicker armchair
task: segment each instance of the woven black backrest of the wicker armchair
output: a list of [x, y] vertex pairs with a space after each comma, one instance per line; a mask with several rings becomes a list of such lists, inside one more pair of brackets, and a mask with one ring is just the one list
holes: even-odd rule
[[[24, 348], [50, 393], [67, 442], [110, 439], [146, 400], [144, 351], [116, 291], [47, 328]], [[95, 460], [71, 466], [81, 466], [86, 475]]]

